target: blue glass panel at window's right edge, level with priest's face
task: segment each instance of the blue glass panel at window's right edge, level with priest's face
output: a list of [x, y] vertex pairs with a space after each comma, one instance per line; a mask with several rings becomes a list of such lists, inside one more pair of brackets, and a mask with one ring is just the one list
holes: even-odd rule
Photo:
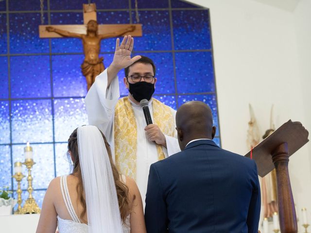
[[176, 52], [178, 93], [214, 92], [211, 52]]

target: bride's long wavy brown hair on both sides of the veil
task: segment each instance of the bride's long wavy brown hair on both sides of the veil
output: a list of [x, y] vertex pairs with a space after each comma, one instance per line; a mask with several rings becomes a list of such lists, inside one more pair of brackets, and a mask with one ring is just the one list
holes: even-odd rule
[[[110, 146], [109, 146], [104, 134], [102, 132], [101, 132], [101, 134], [103, 136], [105, 147], [106, 147], [108, 155], [109, 155], [109, 161], [111, 164], [112, 173], [113, 173], [113, 177], [114, 177], [116, 189], [117, 189], [117, 196], [118, 196], [121, 219], [124, 223], [126, 216], [130, 212], [128, 187], [124, 183], [121, 182], [120, 173], [118, 172], [117, 167], [114, 165], [113, 160], [112, 160]], [[82, 181], [82, 173], [81, 173], [81, 168], [80, 168], [78, 141], [77, 141], [77, 129], [75, 129], [71, 133], [71, 135], [68, 139], [68, 154], [69, 154], [69, 151], [70, 151], [71, 156], [74, 160], [73, 161], [72, 175], [76, 176], [79, 180], [77, 187], [76, 187], [76, 190], [78, 193], [78, 198], [79, 198], [79, 200], [82, 204], [82, 207], [83, 207], [83, 211], [80, 215], [80, 219], [82, 220], [82, 222], [86, 223], [87, 222], [87, 219], [85, 219], [86, 199], [85, 199], [85, 192], [84, 192], [83, 181]]]

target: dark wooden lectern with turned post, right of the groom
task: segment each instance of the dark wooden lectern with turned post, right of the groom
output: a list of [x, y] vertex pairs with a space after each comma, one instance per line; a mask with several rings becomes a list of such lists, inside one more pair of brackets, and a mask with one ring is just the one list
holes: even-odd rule
[[258, 174], [261, 177], [276, 168], [281, 233], [298, 231], [288, 162], [289, 157], [309, 141], [308, 135], [308, 131], [300, 122], [289, 120], [245, 155], [250, 157], [252, 152], [252, 158], [257, 164]]

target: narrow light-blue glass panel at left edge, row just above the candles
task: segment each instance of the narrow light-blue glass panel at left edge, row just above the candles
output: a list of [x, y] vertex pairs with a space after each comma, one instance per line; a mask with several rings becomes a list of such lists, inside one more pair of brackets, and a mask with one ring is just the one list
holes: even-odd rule
[[0, 101], [0, 144], [10, 143], [9, 114], [9, 101]]

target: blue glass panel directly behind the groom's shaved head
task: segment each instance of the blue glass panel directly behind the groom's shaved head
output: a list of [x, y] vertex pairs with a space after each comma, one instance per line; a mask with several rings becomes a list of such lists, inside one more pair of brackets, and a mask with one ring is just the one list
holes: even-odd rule
[[213, 125], [216, 126], [216, 136], [219, 135], [219, 127], [218, 127], [218, 113], [217, 113], [217, 100], [216, 95], [184, 95], [178, 96], [178, 107], [180, 107], [183, 103], [188, 101], [202, 101], [206, 103], [213, 114]]

